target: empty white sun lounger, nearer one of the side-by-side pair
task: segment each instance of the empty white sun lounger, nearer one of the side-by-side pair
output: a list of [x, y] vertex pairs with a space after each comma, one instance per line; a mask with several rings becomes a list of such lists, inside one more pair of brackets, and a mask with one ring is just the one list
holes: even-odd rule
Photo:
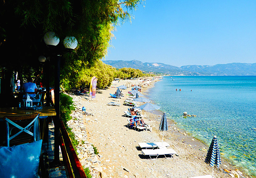
[[149, 156], [150, 159], [152, 159], [151, 156], [156, 156], [156, 158], [157, 158], [159, 155], [164, 155], [164, 157], [167, 158], [166, 155], [171, 155], [171, 157], [173, 157], [173, 154], [176, 154], [176, 152], [173, 149], [171, 149], [171, 148], [142, 149], [141, 153], [143, 155]]

